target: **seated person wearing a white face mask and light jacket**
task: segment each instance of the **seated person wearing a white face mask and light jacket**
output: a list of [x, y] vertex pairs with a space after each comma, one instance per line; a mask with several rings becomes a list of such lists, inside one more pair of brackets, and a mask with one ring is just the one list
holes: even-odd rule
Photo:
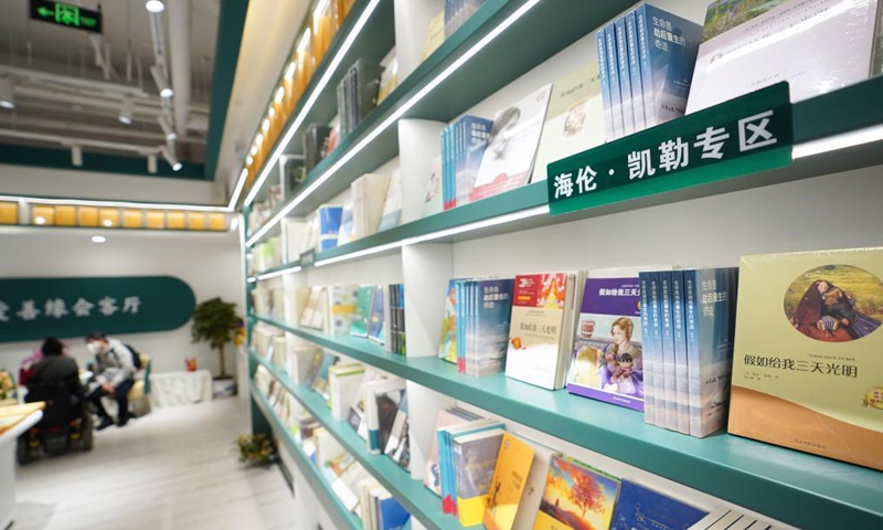
[[135, 384], [135, 362], [132, 352], [126, 344], [117, 339], [109, 339], [103, 332], [95, 331], [86, 337], [86, 348], [95, 356], [96, 380], [98, 386], [88, 395], [100, 416], [97, 430], [103, 431], [114, 424], [107, 414], [102, 398], [111, 395], [117, 401], [117, 426], [124, 426], [129, 421], [129, 391]]

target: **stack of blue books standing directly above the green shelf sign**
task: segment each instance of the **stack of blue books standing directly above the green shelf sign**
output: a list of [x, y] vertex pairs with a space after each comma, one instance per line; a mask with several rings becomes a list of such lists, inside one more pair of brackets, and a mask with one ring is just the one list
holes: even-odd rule
[[642, 3], [597, 32], [607, 141], [683, 116], [702, 26]]

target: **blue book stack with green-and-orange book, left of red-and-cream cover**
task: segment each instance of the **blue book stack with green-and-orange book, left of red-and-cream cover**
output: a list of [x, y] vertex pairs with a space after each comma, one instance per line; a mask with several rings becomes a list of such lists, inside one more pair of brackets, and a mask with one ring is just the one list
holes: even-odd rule
[[451, 279], [438, 356], [472, 377], [503, 369], [512, 315], [512, 279]]

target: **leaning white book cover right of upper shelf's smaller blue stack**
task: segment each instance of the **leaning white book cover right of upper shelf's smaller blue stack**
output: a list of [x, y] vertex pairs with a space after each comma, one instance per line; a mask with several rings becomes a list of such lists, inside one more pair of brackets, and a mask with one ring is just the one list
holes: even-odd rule
[[519, 188], [530, 180], [551, 92], [552, 85], [545, 85], [493, 117], [470, 201]]

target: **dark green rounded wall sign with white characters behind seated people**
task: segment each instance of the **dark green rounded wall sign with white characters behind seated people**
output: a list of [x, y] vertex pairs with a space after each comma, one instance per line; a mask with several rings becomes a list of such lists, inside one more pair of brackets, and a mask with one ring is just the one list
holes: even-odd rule
[[195, 303], [171, 276], [0, 279], [0, 342], [168, 331], [190, 320]]

